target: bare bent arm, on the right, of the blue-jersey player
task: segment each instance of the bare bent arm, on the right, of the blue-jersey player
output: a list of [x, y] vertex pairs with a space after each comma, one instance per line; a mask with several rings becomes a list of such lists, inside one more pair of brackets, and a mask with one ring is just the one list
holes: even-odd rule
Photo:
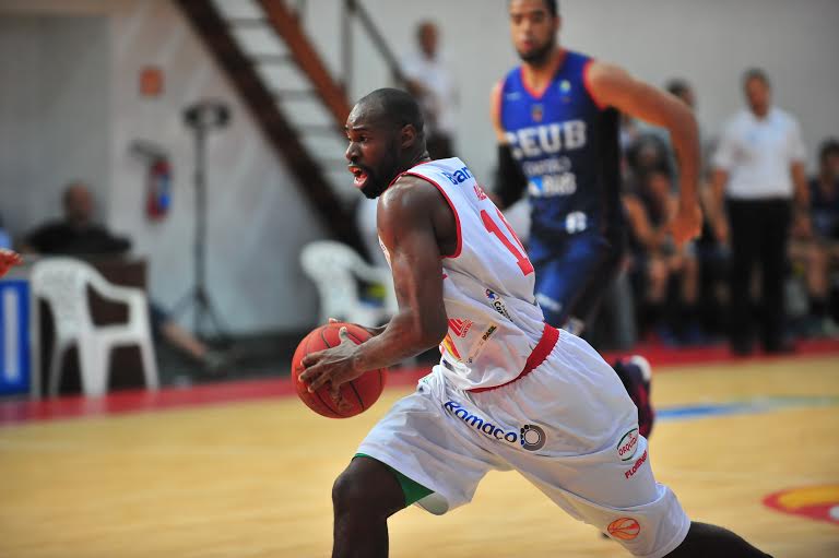
[[699, 235], [702, 212], [699, 205], [699, 129], [690, 109], [663, 92], [613, 64], [592, 62], [588, 71], [590, 93], [602, 106], [640, 118], [670, 131], [678, 158], [678, 210], [671, 223], [673, 240], [682, 245]]

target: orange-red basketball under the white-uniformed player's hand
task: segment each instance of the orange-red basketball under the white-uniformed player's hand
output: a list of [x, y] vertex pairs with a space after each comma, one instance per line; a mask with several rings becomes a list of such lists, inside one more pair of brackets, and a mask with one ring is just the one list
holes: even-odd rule
[[388, 369], [379, 368], [368, 370], [355, 380], [341, 385], [341, 396], [352, 405], [352, 408], [345, 411], [339, 411], [338, 403], [329, 394], [329, 384], [320, 387], [315, 393], [309, 393], [308, 385], [299, 379], [300, 373], [305, 370], [303, 357], [309, 353], [317, 353], [340, 345], [341, 339], [338, 332], [343, 327], [346, 327], [350, 339], [355, 344], [364, 343], [370, 339], [367, 330], [353, 323], [328, 323], [316, 328], [303, 337], [292, 359], [292, 381], [297, 390], [297, 395], [310, 409], [329, 418], [347, 418], [370, 408], [381, 395], [385, 381], [388, 378]]

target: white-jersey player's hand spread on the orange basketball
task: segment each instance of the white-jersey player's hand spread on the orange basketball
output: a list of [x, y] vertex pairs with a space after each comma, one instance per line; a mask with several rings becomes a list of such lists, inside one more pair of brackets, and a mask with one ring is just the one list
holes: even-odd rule
[[341, 396], [341, 385], [355, 380], [364, 370], [356, 370], [353, 366], [358, 345], [350, 339], [346, 328], [341, 328], [338, 336], [341, 339], [340, 345], [303, 357], [306, 370], [300, 373], [299, 379], [308, 384], [309, 393], [315, 393], [328, 383], [332, 400], [338, 403], [339, 409], [343, 411], [348, 403]]

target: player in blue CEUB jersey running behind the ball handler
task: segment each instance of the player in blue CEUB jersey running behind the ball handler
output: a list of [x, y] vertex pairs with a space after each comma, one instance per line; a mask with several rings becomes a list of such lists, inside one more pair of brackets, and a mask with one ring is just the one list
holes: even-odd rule
[[[671, 224], [678, 245], [697, 236], [701, 225], [697, 126], [675, 97], [618, 67], [559, 47], [556, 0], [511, 0], [509, 15], [521, 66], [492, 95], [499, 154], [495, 199], [505, 209], [527, 190], [536, 299], [547, 323], [579, 335], [624, 254], [618, 111], [671, 133], [682, 185]], [[633, 357], [616, 363], [615, 371], [638, 406], [641, 432], [649, 435], [649, 365]]]

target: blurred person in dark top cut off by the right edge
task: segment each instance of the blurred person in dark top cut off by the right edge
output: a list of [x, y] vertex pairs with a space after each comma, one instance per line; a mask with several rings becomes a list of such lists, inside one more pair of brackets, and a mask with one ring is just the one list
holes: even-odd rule
[[[839, 269], [839, 140], [819, 149], [819, 171], [810, 180], [810, 221], [793, 227], [790, 257], [804, 266], [812, 335], [837, 335], [828, 312], [830, 277]], [[810, 224], [802, 226], [801, 224]]]

